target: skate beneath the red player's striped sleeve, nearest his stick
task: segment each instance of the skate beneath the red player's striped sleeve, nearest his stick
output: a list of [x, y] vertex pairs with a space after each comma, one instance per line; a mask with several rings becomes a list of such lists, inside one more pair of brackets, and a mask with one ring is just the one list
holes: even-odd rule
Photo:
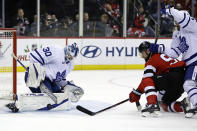
[[141, 111], [143, 117], [158, 117], [160, 116], [160, 108], [158, 104], [146, 105], [145, 109]]

